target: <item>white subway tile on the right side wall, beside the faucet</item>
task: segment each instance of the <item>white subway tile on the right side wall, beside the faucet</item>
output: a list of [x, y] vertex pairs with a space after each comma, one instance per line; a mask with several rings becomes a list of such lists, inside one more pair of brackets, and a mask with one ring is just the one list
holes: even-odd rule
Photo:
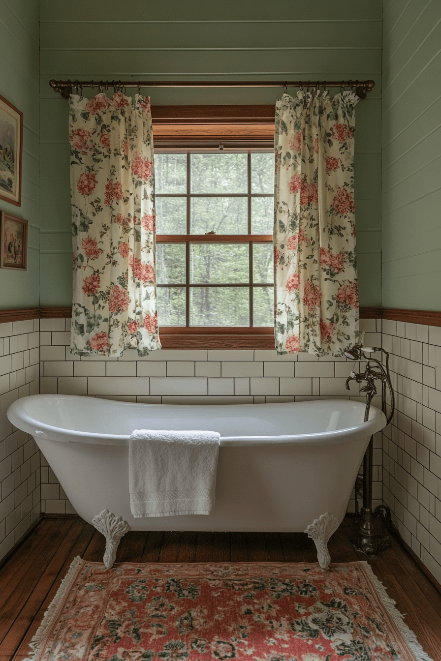
[[383, 321], [395, 416], [383, 431], [383, 499], [441, 583], [441, 328]]

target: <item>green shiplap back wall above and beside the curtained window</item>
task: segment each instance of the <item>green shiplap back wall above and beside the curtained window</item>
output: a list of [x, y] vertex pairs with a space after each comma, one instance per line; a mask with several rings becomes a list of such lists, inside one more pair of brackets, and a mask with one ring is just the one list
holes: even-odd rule
[[[356, 109], [361, 305], [381, 303], [381, 0], [40, 0], [41, 304], [71, 304], [68, 103], [55, 79], [368, 79]], [[294, 91], [295, 93], [296, 91]], [[128, 93], [131, 93], [130, 91]], [[278, 89], [143, 89], [153, 104], [273, 103]]]

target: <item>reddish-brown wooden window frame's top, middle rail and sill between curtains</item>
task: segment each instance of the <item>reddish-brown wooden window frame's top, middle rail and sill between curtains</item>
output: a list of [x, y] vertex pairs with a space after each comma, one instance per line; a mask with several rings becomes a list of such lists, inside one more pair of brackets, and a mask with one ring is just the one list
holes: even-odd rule
[[[152, 106], [157, 151], [268, 149], [274, 145], [274, 106]], [[248, 228], [250, 231], [250, 228]], [[270, 243], [272, 235], [157, 235], [157, 243]], [[188, 311], [187, 311], [188, 314]], [[274, 328], [160, 326], [163, 348], [274, 348]]]

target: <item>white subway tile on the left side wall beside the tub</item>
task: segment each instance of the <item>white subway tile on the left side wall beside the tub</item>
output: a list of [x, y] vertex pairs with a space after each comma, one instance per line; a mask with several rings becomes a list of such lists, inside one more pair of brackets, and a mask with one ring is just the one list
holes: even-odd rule
[[38, 319], [0, 324], [0, 559], [40, 516], [40, 452], [6, 417], [40, 379]]

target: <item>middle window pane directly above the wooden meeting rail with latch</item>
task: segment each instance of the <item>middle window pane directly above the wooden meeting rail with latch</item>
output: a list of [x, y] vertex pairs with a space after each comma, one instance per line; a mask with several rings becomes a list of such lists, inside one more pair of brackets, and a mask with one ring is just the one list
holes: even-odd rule
[[247, 198], [192, 198], [192, 234], [247, 234]]

